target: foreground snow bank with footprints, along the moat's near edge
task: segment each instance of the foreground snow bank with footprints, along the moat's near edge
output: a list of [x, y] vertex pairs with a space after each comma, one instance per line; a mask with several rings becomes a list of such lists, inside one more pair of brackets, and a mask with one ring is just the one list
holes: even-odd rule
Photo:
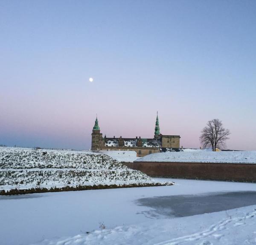
[[227, 245], [256, 243], [255, 205], [236, 210], [118, 226], [88, 234], [44, 239], [36, 245]]

